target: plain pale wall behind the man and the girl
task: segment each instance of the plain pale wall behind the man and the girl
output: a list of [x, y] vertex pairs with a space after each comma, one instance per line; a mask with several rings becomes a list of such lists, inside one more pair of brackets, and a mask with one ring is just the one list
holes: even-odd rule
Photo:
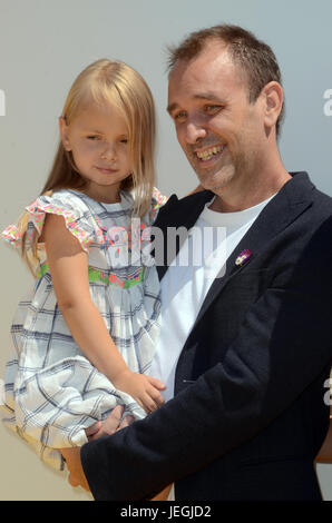
[[[252, 30], [274, 49], [286, 96], [281, 152], [289, 170], [307, 170], [332, 196], [331, 0], [0, 0], [0, 227], [16, 220], [39, 194], [50, 168], [57, 117], [77, 73], [108, 57], [135, 67], [158, 110], [158, 186], [184, 195], [196, 185], [165, 112], [167, 45], [196, 29], [228, 22]], [[332, 92], [331, 92], [332, 95]], [[8, 329], [28, 272], [0, 246], [0, 376], [9, 356]], [[331, 275], [332, 276], [332, 275]], [[301, 365], [301, 362], [299, 362]], [[332, 465], [320, 465], [332, 500]], [[90, 500], [0, 426], [0, 500]]]

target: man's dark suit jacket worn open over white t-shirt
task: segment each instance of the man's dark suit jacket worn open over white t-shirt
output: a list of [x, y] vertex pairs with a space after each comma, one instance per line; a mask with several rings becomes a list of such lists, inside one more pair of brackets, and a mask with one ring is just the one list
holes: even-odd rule
[[[192, 227], [212, 196], [173, 196], [156, 226]], [[174, 399], [82, 447], [95, 499], [141, 500], [173, 481], [176, 500], [320, 499], [313, 461], [329, 426], [331, 349], [332, 200], [299, 172], [213, 283]]]

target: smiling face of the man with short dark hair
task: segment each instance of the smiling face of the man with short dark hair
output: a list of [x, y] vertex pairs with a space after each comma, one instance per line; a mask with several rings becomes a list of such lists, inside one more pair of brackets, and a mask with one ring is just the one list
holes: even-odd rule
[[[179, 60], [169, 79], [168, 112], [177, 139], [206, 189], [247, 184], [264, 137], [260, 97], [248, 102], [246, 77], [219, 42]], [[242, 181], [244, 180], [244, 181]]]

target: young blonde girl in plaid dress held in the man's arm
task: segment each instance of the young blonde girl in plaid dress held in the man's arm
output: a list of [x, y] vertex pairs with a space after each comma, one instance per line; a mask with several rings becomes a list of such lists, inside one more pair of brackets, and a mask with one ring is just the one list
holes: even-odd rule
[[129, 66], [87, 67], [59, 127], [41, 195], [2, 236], [37, 278], [11, 327], [4, 423], [62, 468], [59, 448], [86, 443], [117, 404], [141, 418], [163, 403], [164, 385], [147, 375], [159, 284], [141, 253], [164, 198], [154, 189], [153, 98]]

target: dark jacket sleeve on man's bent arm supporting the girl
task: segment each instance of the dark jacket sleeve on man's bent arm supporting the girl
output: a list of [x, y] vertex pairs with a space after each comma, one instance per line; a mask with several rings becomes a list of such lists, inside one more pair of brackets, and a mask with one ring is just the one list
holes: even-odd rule
[[96, 500], [141, 500], [206, 466], [264, 430], [331, 365], [331, 233], [329, 219], [297, 264], [280, 268], [221, 363], [145, 420], [82, 447]]

